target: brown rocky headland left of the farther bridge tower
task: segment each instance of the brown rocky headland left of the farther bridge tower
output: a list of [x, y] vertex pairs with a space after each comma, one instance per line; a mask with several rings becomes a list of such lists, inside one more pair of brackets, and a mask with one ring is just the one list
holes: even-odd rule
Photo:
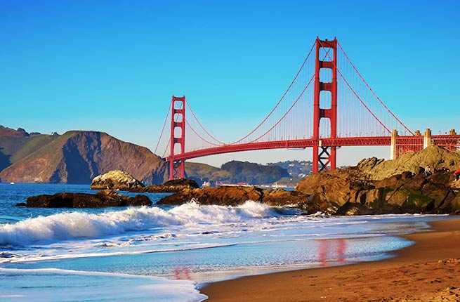
[[1, 181], [91, 183], [95, 176], [114, 169], [127, 171], [146, 184], [167, 179], [167, 165], [160, 157], [107, 133], [26, 133], [0, 131]]

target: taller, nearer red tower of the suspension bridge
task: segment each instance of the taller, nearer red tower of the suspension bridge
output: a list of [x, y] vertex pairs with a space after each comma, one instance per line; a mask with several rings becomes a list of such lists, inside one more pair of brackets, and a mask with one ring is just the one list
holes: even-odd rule
[[[316, 38], [315, 59], [315, 88], [313, 94], [313, 173], [327, 169], [336, 169], [336, 147], [322, 145], [320, 138], [321, 119], [329, 119], [331, 126], [330, 138], [337, 138], [337, 39], [332, 41]], [[327, 58], [320, 60], [320, 50], [325, 48]], [[327, 60], [328, 58], [332, 60]], [[331, 70], [331, 81], [323, 82], [320, 79], [322, 69]], [[321, 107], [321, 91], [329, 91], [331, 107]]]

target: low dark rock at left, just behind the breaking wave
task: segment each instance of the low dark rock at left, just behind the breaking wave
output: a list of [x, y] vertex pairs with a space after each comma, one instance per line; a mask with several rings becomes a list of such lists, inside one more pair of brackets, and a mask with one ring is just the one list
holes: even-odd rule
[[30, 208], [101, 208], [107, 206], [150, 206], [152, 202], [145, 195], [127, 197], [112, 190], [103, 190], [96, 194], [58, 193], [38, 195], [27, 198], [26, 204], [17, 206]]

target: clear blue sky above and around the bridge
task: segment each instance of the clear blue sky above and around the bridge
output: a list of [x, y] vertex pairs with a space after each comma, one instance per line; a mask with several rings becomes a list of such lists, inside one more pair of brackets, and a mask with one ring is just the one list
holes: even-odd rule
[[[231, 140], [270, 110], [319, 35], [338, 37], [412, 129], [460, 128], [458, 1], [322, 2], [0, 0], [0, 124], [153, 148], [171, 95], [185, 94]], [[294, 157], [305, 152], [202, 162]]]

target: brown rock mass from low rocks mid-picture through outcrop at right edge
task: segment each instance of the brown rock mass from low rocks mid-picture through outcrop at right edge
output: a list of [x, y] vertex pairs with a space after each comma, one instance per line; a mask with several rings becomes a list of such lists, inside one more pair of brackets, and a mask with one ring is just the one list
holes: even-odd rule
[[[453, 173], [460, 166], [460, 155], [429, 147], [404, 158], [366, 159], [347, 169], [313, 174], [301, 180], [296, 191], [186, 189], [164, 197], [158, 204], [195, 200], [199, 204], [235, 206], [253, 200], [272, 206], [297, 206], [306, 214], [460, 214], [460, 180]], [[400, 172], [400, 166], [409, 171]]]

